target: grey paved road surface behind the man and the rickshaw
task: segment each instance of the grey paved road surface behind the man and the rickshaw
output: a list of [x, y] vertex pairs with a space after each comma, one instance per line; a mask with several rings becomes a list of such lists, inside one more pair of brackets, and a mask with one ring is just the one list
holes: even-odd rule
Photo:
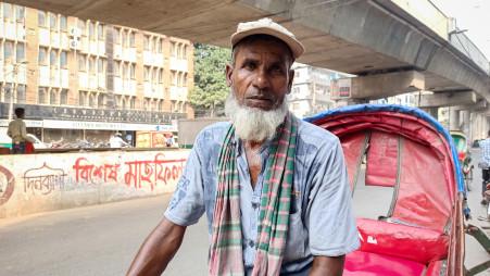
[[[474, 150], [474, 163], [479, 160]], [[490, 226], [476, 219], [485, 214], [479, 204], [481, 172], [475, 170], [474, 188], [468, 204], [475, 217], [470, 223]], [[361, 176], [361, 179], [364, 177]], [[377, 218], [386, 213], [392, 192], [384, 187], [376, 197], [363, 184], [356, 188], [356, 215]], [[388, 192], [387, 192], [388, 191]], [[370, 190], [369, 192], [373, 192]], [[370, 193], [373, 195], [373, 193]], [[162, 218], [169, 196], [130, 200], [96, 206], [62, 210], [17, 218], [0, 219], [1, 275], [124, 275], [147, 235]], [[486, 230], [490, 235], [489, 230]], [[489, 254], [466, 236], [466, 266], [489, 260]], [[164, 275], [205, 275], [209, 239], [204, 217], [188, 227], [186, 238]], [[490, 275], [482, 273], [480, 275]]]

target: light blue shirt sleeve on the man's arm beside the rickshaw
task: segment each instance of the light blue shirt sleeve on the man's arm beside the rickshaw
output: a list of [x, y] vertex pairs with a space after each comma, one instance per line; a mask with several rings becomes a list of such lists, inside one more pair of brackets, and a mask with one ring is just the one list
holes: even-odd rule
[[338, 139], [324, 147], [315, 171], [305, 213], [313, 255], [338, 256], [361, 243], [355, 224], [345, 161]]

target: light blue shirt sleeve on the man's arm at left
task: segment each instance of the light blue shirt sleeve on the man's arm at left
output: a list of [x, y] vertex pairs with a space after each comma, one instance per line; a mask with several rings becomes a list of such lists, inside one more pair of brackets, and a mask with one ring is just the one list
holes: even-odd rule
[[165, 211], [166, 218], [181, 226], [198, 223], [205, 211], [199, 140], [200, 136], [198, 136], [194, 147], [187, 159], [184, 174], [178, 180], [172, 200]]

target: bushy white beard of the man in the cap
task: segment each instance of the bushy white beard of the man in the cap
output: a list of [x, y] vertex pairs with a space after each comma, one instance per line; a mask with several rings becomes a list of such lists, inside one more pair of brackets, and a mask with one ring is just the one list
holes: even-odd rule
[[276, 128], [284, 121], [288, 114], [288, 102], [286, 97], [282, 104], [275, 110], [262, 111], [241, 106], [235, 91], [231, 90], [226, 98], [225, 103], [226, 116], [231, 118], [237, 136], [250, 141], [266, 141], [272, 140], [276, 135]]

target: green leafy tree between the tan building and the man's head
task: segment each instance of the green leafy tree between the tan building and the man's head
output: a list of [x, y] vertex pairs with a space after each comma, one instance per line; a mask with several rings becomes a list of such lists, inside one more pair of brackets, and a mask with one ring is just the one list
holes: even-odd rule
[[210, 45], [194, 43], [194, 88], [189, 102], [194, 109], [209, 109], [211, 116], [225, 105], [229, 88], [226, 86], [226, 64], [231, 51]]

